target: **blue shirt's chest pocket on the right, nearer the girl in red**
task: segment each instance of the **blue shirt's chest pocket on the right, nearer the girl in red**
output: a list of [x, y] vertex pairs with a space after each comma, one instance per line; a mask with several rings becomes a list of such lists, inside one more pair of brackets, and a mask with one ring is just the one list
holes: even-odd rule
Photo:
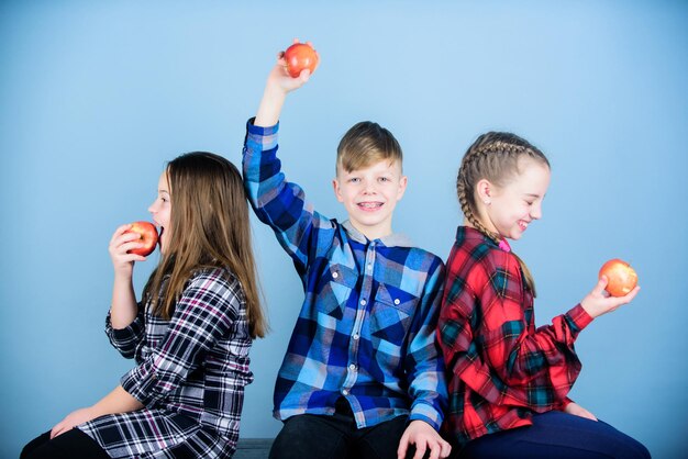
[[370, 311], [370, 335], [402, 346], [413, 321], [418, 296], [397, 287], [380, 283]]

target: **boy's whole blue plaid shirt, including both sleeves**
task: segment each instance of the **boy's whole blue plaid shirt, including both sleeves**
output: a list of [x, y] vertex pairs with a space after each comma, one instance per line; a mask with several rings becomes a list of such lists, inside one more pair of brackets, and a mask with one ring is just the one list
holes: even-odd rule
[[399, 415], [440, 428], [447, 395], [435, 344], [444, 266], [401, 235], [368, 240], [315, 212], [287, 182], [278, 125], [247, 123], [244, 182], [258, 219], [293, 259], [306, 298], [275, 385], [275, 417], [333, 414], [358, 427]]

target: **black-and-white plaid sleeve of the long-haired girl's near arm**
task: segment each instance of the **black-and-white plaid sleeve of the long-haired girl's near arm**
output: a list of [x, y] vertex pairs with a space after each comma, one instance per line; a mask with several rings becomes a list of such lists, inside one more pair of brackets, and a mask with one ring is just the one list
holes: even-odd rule
[[122, 377], [122, 388], [146, 406], [175, 391], [236, 320], [240, 300], [215, 269], [197, 273], [184, 290], [165, 338]]

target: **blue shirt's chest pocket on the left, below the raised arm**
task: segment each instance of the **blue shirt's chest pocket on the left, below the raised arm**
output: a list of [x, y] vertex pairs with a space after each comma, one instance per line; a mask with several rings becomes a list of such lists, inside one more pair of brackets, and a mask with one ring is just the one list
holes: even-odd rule
[[342, 318], [346, 302], [357, 282], [358, 272], [354, 269], [344, 265], [330, 265], [320, 278], [321, 288], [315, 301], [318, 311], [337, 320]]

